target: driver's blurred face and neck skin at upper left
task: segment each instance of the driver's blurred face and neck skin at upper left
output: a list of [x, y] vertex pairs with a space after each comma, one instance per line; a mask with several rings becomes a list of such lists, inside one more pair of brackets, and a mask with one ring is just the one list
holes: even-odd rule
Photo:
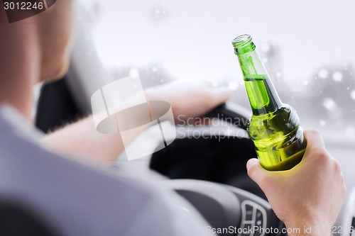
[[72, 0], [58, 0], [14, 23], [9, 23], [0, 1], [0, 105], [10, 104], [31, 118], [33, 85], [65, 74], [71, 34]]

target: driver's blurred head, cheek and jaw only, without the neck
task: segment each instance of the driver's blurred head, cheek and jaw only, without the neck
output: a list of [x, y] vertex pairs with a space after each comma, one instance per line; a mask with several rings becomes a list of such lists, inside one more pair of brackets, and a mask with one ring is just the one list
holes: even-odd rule
[[15, 23], [7, 21], [2, 3], [0, 6], [0, 52], [6, 52], [1, 57], [9, 57], [13, 69], [19, 69], [29, 54], [31, 69], [38, 71], [33, 83], [62, 77], [69, 64], [72, 0], [56, 1], [42, 13]]

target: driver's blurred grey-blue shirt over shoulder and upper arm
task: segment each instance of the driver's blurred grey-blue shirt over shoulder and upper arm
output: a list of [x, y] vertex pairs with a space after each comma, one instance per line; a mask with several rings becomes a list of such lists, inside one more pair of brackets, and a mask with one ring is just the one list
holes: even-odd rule
[[25, 201], [62, 235], [190, 235], [188, 227], [203, 223], [148, 176], [112, 173], [51, 152], [1, 114], [0, 130], [0, 195]]

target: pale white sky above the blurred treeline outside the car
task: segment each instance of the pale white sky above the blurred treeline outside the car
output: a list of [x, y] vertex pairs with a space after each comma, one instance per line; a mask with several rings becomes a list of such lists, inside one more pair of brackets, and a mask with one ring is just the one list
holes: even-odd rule
[[[99, 5], [94, 42], [109, 66], [163, 62], [180, 79], [241, 77], [230, 42], [243, 33], [257, 46], [279, 46], [285, 79], [303, 81], [324, 64], [355, 64], [351, 0], [99, 0]], [[154, 22], [161, 11], [162, 21]]]

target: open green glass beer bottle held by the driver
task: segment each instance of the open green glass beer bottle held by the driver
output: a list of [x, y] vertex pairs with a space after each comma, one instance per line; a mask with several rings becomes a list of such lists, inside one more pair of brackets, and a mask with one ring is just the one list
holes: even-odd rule
[[295, 109], [282, 103], [250, 35], [232, 41], [238, 56], [253, 116], [248, 132], [261, 165], [268, 170], [291, 169], [305, 153], [306, 142]]

